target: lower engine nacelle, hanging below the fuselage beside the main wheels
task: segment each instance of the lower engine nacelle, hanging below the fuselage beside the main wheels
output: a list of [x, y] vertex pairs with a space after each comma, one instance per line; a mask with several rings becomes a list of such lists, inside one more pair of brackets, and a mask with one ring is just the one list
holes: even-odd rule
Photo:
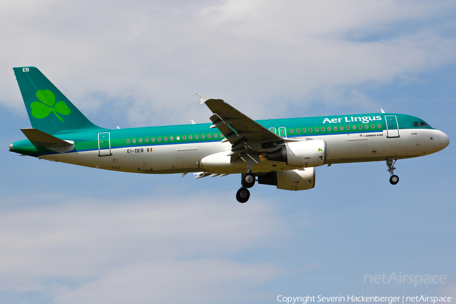
[[315, 167], [270, 172], [258, 176], [259, 184], [277, 186], [284, 190], [307, 190], [315, 187]]

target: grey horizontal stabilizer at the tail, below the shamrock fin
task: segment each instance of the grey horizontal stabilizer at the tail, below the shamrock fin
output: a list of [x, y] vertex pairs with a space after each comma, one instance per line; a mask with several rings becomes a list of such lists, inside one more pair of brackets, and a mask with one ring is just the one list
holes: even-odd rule
[[21, 129], [21, 131], [35, 147], [47, 148], [58, 153], [74, 149], [74, 142], [71, 140], [63, 140], [34, 128]]

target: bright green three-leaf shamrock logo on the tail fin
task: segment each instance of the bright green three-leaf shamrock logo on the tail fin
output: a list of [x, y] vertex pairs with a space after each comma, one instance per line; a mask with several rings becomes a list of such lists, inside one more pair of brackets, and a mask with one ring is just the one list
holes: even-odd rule
[[57, 103], [55, 103], [55, 95], [52, 91], [38, 90], [36, 92], [36, 98], [41, 102], [33, 101], [30, 105], [34, 118], [45, 118], [51, 112], [54, 112], [55, 116], [63, 122], [63, 119], [57, 113], [60, 113], [61, 115], [69, 115], [69, 113], [71, 113], [71, 109], [66, 106], [65, 102], [57, 101]]

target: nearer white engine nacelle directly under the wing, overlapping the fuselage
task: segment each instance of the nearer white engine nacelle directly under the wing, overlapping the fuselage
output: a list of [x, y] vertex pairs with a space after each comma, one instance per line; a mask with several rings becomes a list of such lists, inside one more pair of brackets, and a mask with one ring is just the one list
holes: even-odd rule
[[326, 162], [326, 142], [324, 140], [304, 140], [287, 142], [282, 148], [268, 154], [268, 160], [285, 162], [295, 167], [318, 167]]

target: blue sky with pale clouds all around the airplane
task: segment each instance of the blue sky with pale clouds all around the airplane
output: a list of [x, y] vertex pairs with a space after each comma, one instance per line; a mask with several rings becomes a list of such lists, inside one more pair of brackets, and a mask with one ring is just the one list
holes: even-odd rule
[[[95, 124], [209, 122], [195, 93], [253, 119], [386, 111], [455, 138], [449, 1], [1, 3], [0, 302], [273, 303], [456, 297], [453, 143], [317, 168], [316, 187], [114, 173], [21, 157], [12, 67], [36, 66]], [[364, 284], [365, 275], [446, 284]]]

